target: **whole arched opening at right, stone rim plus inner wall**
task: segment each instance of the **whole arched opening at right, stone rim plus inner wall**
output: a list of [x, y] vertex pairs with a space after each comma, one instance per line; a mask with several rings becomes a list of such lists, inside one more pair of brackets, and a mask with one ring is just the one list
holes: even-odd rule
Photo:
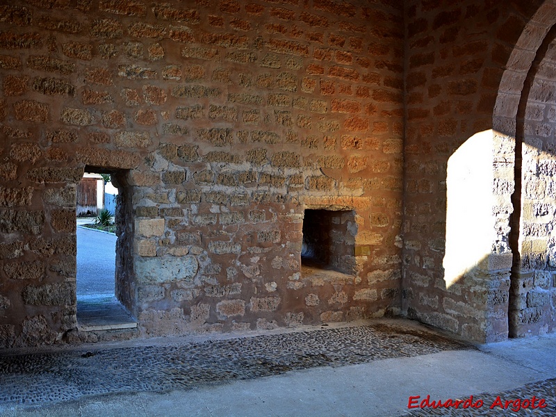
[[[508, 243], [510, 337], [555, 327], [556, 10], [546, 1], [516, 43], [502, 75], [495, 135], [514, 144]], [[508, 179], [504, 179], [507, 181]]]

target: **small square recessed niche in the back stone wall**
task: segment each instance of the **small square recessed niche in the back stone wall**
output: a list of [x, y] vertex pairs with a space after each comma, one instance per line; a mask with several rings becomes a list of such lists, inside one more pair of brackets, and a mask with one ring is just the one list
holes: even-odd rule
[[311, 268], [355, 274], [354, 211], [306, 209], [301, 263]]

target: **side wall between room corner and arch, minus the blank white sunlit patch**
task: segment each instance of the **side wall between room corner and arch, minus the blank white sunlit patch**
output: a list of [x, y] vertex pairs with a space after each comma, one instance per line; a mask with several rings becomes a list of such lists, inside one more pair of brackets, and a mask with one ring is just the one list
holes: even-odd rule
[[449, 288], [443, 275], [446, 169], [468, 138], [493, 128], [503, 68], [540, 3], [406, 4], [404, 309], [410, 317], [477, 341], [507, 337], [514, 157], [503, 134], [509, 132], [492, 139], [496, 223], [488, 244], [493, 252]]

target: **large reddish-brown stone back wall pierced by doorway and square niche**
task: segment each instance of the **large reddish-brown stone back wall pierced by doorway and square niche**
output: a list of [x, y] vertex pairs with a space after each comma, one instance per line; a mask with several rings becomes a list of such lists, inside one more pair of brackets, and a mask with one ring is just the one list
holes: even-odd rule
[[[144, 334], [399, 311], [398, 6], [33, 0], [0, 16], [0, 346], [76, 326], [85, 165], [124, 172], [117, 293]], [[300, 275], [307, 207], [355, 211], [357, 274]]]

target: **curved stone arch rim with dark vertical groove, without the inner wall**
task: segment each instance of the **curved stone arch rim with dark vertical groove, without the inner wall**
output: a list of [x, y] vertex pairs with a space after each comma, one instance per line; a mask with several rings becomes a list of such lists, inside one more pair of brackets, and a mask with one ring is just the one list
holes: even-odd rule
[[[502, 238], [502, 244], [507, 245], [513, 254], [512, 271], [510, 274], [509, 306], [508, 306], [508, 328], [509, 336], [525, 336], [525, 330], [531, 333], [539, 333], [539, 326], [531, 326], [530, 321], [536, 320], [530, 317], [534, 313], [528, 306], [534, 302], [530, 300], [527, 292], [534, 287], [534, 273], [523, 270], [523, 223], [522, 206], [526, 197], [522, 191], [529, 186], [528, 181], [522, 183], [523, 144], [526, 142], [528, 128], [528, 110], [532, 86], [537, 79], [539, 65], [544, 60], [550, 44], [556, 38], [556, 4], [544, 1], [532, 15], [512, 49], [505, 71], [502, 73], [496, 105], [493, 111], [493, 167], [494, 187], [502, 182], [511, 184], [513, 193], [511, 199], [499, 202], [500, 206], [507, 209], [499, 213], [498, 224], [505, 224], [507, 233]], [[526, 145], [528, 147], [528, 145]], [[539, 152], [541, 150], [539, 149]], [[530, 202], [525, 207], [530, 208]], [[500, 215], [501, 214], [501, 215]], [[525, 273], [524, 273], [525, 272]], [[548, 289], [548, 288], [547, 288]], [[550, 304], [550, 300], [548, 300]], [[543, 306], [543, 309], [550, 309]], [[537, 310], [536, 307], [533, 309]], [[550, 313], [549, 313], [550, 314]], [[545, 327], [545, 331], [548, 327]]]

